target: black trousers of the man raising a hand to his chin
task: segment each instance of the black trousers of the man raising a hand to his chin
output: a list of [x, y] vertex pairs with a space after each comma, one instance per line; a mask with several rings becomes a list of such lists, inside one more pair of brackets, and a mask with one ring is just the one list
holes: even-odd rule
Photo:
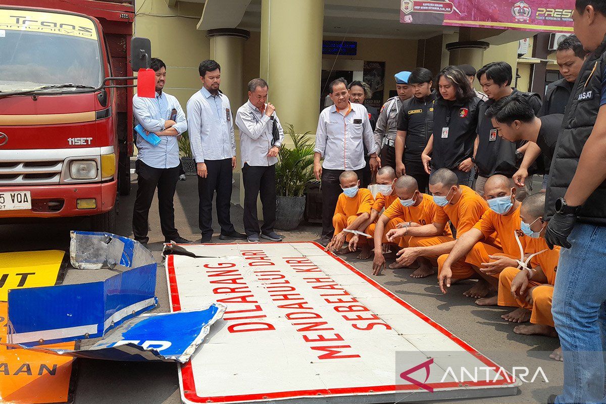
[[[276, 165], [269, 167], [244, 164], [244, 231], [251, 234], [268, 234], [276, 223]], [[257, 218], [257, 196], [261, 192], [263, 225], [259, 229]]]

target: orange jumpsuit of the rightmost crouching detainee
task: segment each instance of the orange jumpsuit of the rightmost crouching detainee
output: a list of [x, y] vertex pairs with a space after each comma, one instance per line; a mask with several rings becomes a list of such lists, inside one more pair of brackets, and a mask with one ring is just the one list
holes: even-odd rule
[[[545, 250], [547, 243], [541, 237], [533, 239], [528, 243], [527, 253], [538, 253]], [[542, 324], [548, 326], [553, 325], [553, 317], [551, 316], [551, 297], [553, 297], [553, 285], [556, 282], [556, 271], [558, 270], [558, 259], [560, 256], [560, 247], [556, 246], [553, 250], [549, 250], [534, 256], [530, 260], [531, 268], [541, 267], [541, 270], [547, 277], [547, 284], [528, 281], [527, 290], [536, 286], [532, 291], [532, 304], [529, 304], [524, 299], [517, 299], [511, 295], [511, 282], [514, 277], [520, 272], [518, 268], [505, 268], [499, 276], [499, 306], [523, 307], [531, 310], [530, 322], [534, 324]], [[525, 271], [525, 270], [524, 270]]]

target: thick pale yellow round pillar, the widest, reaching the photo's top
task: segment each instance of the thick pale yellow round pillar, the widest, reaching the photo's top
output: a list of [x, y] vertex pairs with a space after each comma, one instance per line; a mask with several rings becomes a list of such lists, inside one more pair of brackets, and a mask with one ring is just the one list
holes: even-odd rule
[[260, 76], [280, 121], [316, 132], [324, 0], [262, 0]]

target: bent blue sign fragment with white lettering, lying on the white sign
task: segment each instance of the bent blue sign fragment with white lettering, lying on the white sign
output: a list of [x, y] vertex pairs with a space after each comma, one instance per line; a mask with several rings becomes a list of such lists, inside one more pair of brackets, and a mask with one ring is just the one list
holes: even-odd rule
[[186, 363], [207, 336], [210, 326], [223, 317], [224, 311], [224, 305], [213, 303], [201, 310], [143, 314], [123, 323], [86, 349], [8, 346], [90, 359]]

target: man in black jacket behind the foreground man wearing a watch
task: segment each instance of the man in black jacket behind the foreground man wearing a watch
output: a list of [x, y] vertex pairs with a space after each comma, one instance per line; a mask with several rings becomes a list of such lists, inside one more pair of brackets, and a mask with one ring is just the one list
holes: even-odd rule
[[570, 98], [570, 91], [581, 71], [586, 54], [587, 52], [576, 35], [567, 36], [564, 41], [560, 42], [556, 52], [556, 62], [558, 62], [558, 69], [564, 78], [547, 86], [543, 107], [537, 116], [564, 113], [564, 108]]

